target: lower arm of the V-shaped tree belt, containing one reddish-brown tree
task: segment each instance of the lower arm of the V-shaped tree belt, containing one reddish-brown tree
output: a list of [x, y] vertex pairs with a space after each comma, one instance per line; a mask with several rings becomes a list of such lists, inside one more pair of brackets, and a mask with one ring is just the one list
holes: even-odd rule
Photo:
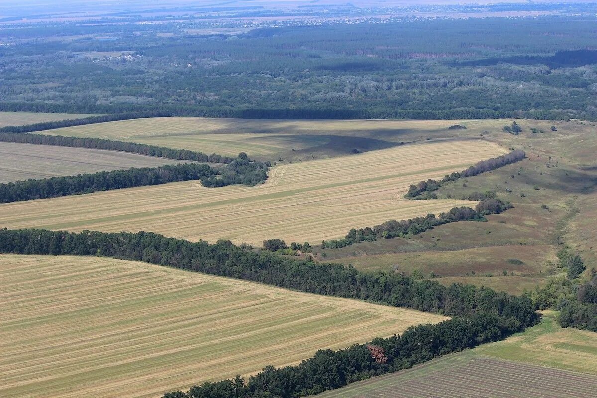
[[[523, 316], [512, 313], [512, 319]], [[524, 316], [523, 316], [524, 317]], [[530, 323], [530, 325], [532, 322]], [[411, 368], [435, 357], [501, 340], [518, 331], [503, 317], [479, 314], [436, 325], [420, 325], [402, 335], [376, 338], [338, 351], [319, 350], [296, 366], [266, 366], [247, 381], [236, 378], [193, 385], [162, 398], [294, 398], [340, 388], [351, 382]]]

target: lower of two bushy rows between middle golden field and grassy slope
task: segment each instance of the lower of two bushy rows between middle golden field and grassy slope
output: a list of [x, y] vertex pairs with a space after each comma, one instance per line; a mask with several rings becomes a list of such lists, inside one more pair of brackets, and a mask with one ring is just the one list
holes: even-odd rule
[[417, 235], [433, 229], [433, 227], [456, 221], [487, 221], [485, 215], [499, 214], [509, 208], [512, 208], [512, 205], [504, 203], [500, 199], [485, 199], [481, 200], [475, 209], [454, 207], [450, 211], [440, 214], [439, 217], [435, 217], [435, 214], [427, 214], [426, 217], [411, 218], [411, 220], [386, 221], [373, 228], [351, 229], [344, 239], [324, 240], [321, 243], [321, 248], [338, 249], [359, 242], [373, 242], [380, 237], [392, 239], [398, 236]]

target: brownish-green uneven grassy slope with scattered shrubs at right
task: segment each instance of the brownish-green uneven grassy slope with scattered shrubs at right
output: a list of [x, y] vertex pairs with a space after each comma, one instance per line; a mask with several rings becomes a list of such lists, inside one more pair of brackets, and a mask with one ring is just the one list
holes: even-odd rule
[[[448, 184], [437, 192], [440, 198], [461, 198], [473, 191], [493, 190], [500, 199], [512, 202], [514, 209], [488, 217], [488, 223], [448, 224], [410, 239], [327, 250], [327, 260], [370, 270], [395, 266], [410, 273], [418, 269], [426, 276], [433, 271], [445, 277], [438, 279], [442, 283], [475, 283], [514, 293], [532, 289], [560, 272], [555, 268], [555, 252], [563, 242], [580, 245], [587, 266], [597, 266], [592, 228], [597, 217], [592, 193], [597, 181], [591, 155], [597, 147], [594, 126], [561, 122], [555, 123], [558, 131], [552, 132], [551, 122], [519, 124], [523, 127], [519, 136], [484, 135], [524, 149], [528, 159]], [[535, 126], [546, 132], [533, 134], [530, 128]], [[525, 264], [509, 264], [509, 258]], [[503, 270], [513, 272], [515, 279], [504, 277]]]

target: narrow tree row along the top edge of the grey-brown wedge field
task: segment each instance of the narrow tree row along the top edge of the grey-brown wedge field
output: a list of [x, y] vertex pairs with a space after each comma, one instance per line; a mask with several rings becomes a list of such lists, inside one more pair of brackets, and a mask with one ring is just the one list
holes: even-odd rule
[[175, 159], [177, 161], [230, 163], [233, 160], [233, 158], [230, 158], [229, 156], [221, 156], [217, 155], [216, 153], [207, 155], [207, 153], [195, 152], [186, 149], [171, 149], [155, 145], [104, 140], [103, 138], [78, 138], [63, 137], [61, 135], [14, 134], [14, 132], [0, 132], [0, 141], [7, 143], [41, 144], [116, 150], [119, 152], [130, 152], [139, 153], [140, 155], [155, 156], [157, 158]]

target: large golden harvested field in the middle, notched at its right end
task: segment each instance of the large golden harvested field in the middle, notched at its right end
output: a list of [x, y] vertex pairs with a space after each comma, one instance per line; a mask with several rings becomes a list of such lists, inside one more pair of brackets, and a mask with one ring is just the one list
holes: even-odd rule
[[485, 141], [414, 144], [278, 165], [259, 186], [205, 188], [198, 181], [96, 192], [0, 206], [0, 226], [161, 233], [188, 240], [260, 245], [279, 237], [319, 243], [349, 229], [403, 220], [463, 200], [406, 200], [411, 183], [460, 171], [503, 149]]

